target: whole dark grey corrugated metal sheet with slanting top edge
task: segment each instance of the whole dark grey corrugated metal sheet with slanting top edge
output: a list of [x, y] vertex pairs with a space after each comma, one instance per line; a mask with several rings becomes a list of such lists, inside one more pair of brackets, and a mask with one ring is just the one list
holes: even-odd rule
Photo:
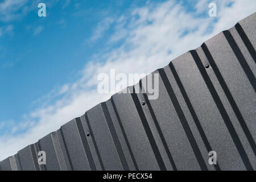
[[[255, 23], [254, 13], [156, 70], [157, 100], [114, 94], [1, 169], [255, 170]], [[47, 165], [37, 162], [40, 150]]]

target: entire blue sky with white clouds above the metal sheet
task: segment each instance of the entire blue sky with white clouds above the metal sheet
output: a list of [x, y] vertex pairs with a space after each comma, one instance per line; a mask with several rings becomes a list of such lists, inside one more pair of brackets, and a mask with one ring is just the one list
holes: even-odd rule
[[107, 100], [99, 73], [150, 73], [256, 9], [210, 2], [0, 0], [0, 160]]

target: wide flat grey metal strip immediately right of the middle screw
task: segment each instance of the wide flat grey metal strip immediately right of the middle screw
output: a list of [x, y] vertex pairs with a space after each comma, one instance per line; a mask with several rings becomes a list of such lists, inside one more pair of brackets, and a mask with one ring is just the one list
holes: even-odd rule
[[[155, 73], [159, 74], [159, 69]], [[150, 104], [177, 170], [199, 170], [199, 163], [162, 79], [159, 79], [159, 97], [157, 100], [150, 100]]]

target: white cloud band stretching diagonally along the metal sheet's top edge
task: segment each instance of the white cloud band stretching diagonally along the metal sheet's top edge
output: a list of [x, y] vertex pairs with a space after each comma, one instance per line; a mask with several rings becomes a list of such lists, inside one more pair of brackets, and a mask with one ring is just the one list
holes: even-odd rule
[[[57, 93], [63, 96], [54, 104], [45, 105], [26, 114], [27, 121], [38, 120], [35, 125], [24, 125], [28, 127], [26, 133], [2, 136], [0, 159], [15, 154], [28, 144], [59, 129], [69, 120], [84, 114], [90, 107], [110, 98], [110, 94], [97, 93], [99, 73], [109, 74], [110, 68], [115, 68], [116, 73], [150, 73], [167, 65], [181, 53], [199, 47], [218, 32], [234, 26], [239, 20], [254, 13], [256, 6], [253, 0], [236, 0], [230, 7], [224, 6], [224, 3], [229, 1], [218, 2], [221, 6], [217, 10], [217, 23], [214, 23], [214, 18], [195, 16], [203, 10], [188, 13], [180, 4], [174, 4], [174, 1], [154, 4], [149, 2], [146, 7], [123, 13], [119, 17], [122, 19], [119, 23], [110, 20], [114, 23], [113, 26], [119, 26], [118, 28], [127, 31], [125, 37], [122, 36], [123, 43], [109, 52], [94, 55], [92, 61], [81, 71], [79, 80], [60, 87]], [[196, 7], [202, 9], [202, 4]], [[208, 6], [205, 9], [208, 9]], [[124, 20], [126, 25], [122, 24]], [[108, 26], [99, 28], [93, 39], [100, 38], [102, 31]], [[213, 31], [205, 34], [209, 26], [213, 27]], [[188, 33], [182, 36], [184, 30]], [[118, 34], [116, 32], [116, 35]]]

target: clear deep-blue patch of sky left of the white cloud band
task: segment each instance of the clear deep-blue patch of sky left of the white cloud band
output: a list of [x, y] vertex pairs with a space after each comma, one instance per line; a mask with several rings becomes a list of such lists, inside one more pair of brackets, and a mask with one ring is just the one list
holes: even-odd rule
[[39, 97], [73, 81], [90, 56], [105, 49], [103, 35], [90, 41], [97, 23], [139, 4], [56, 1], [47, 6], [47, 17], [40, 18], [35, 3], [26, 15], [1, 22], [0, 27], [12, 27], [0, 37], [1, 121], [19, 121], [20, 115], [40, 105], [34, 104]]

